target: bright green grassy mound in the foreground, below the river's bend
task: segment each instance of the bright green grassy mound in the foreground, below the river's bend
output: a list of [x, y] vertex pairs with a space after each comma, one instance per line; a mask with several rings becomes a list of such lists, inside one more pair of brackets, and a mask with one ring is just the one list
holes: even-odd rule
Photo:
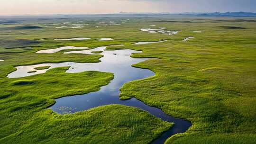
[[147, 112], [121, 105], [58, 115], [43, 110], [1, 144], [146, 144], [170, 124]]

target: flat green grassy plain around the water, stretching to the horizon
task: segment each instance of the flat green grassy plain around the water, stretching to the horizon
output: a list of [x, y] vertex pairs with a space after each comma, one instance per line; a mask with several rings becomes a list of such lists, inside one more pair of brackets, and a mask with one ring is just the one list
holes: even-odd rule
[[[154, 77], [126, 83], [121, 99], [135, 97], [166, 114], [192, 122], [166, 144], [254, 144], [256, 142], [255, 18], [81, 17], [0, 18], [0, 144], [149, 144], [173, 126], [146, 111], [108, 105], [60, 115], [54, 99], [100, 90], [112, 73], [65, 73], [68, 67], [9, 79], [15, 66], [38, 63], [97, 63], [99, 54], [37, 54], [63, 46], [134, 49], [152, 57], [134, 66]], [[242, 20], [241, 20], [242, 19]], [[17, 22], [17, 23], [16, 23]], [[108, 25], [102, 25], [108, 24]], [[101, 24], [101, 25], [99, 25]], [[64, 27], [63, 27], [64, 26]], [[82, 26], [80, 28], [72, 28]], [[58, 28], [56, 28], [58, 27]], [[62, 28], [59, 28], [62, 27]], [[142, 28], [178, 31], [169, 36]], [[90, 37], [86, 40], [55, 40]], [[194, 37], [183, 41], [186, 37]], [[112, 38], [109, 41], [97, 41]], [[132, 45], [136, 42], [161, 43]], [[32, 47], [32, 49], [27, 49]], [[73, 51], [74, 49], [72, 49]], [[46, 69], [46, 68], [39, 68]]]

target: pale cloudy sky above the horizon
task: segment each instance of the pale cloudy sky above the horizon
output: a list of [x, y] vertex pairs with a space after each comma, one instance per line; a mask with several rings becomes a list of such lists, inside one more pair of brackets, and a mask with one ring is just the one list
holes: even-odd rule
[[0, 15], [256, 12], [256, 0], [1, 0]]

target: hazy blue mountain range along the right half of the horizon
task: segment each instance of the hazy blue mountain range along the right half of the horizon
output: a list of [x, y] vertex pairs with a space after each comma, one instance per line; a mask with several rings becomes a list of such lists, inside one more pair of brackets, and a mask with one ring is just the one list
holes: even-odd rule
[[256, 17], [256, 13], [253, 12], [184, 12], [184, 13], [140, 13], [140, 12], [119, 12], [118, 14], [129, 14], [129, 15], [192, 15], [192, 16], [229, 16], [229, 17]]

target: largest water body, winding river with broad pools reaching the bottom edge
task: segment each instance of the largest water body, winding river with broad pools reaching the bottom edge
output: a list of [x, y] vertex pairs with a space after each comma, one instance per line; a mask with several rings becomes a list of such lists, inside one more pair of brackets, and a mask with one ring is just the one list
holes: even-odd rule
[[147, 70], [132, 67], [132, 64], [140, 63], [148, 58], [132, 58], [133, 53], [141, 53], [141, 51], [135, 50], [105, 50], [107, 46], [101, 46], [90, 50], [71, 51], [65, 54], [79, 53], [79, 54], [92, 54], [93, 51], [102, 51], [104, 55], [100, 60], [100, 63], [44, 63], [37, 65], [18, 66], [17, 71], [8, 75], [9, 78], [24, 77], [39, 73], [44, 73], [47, 70], [37, 70], [35, 73], [28, 73], [39, 66], [51, 66], [49, 69], [55, 67], [70, 66], [67, 72], [84, 72], [84, 71], [99, 71], [99, 72], [111, 72], [114, 73], [114, 79], [106, 86], [102, 86], [101, 90], [96, 92], [90, 92], [83, 95], [75, 95], [56, 99], [55, 105], [51, 108], [60, 114], [74, 113], [81, 110], [87, 110], [90, 108], [109, 105], [120, 104], [125, 106], [131, 106], [146, 110], [155, 117], [161, 118], [163, 121], [174, 122], [175, 125], [163, 133], [160, 137], [155, 139], [152, 144], [164, 144], [166, 139], [174, 134], [185, 132], [192, 124], [189, 121], [175, 118], [165, 114], [160, 108], [150, 107], [142, 101], [132, 98], [128, 100], [120, 100], [120, 88], [123, 84], [138, 79], [145, 79], [154, 76], [155, 73]]

